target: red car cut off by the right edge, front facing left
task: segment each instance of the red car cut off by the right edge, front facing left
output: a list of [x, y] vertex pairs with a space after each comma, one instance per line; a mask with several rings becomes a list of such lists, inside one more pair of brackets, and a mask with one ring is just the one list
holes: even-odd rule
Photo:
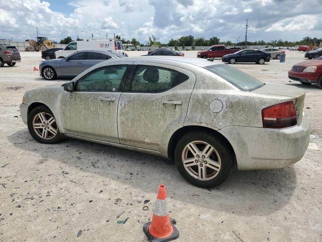
[[294, 65], [288, 78], [306, 85], [316, 83], [322, 89], [322, 56]]

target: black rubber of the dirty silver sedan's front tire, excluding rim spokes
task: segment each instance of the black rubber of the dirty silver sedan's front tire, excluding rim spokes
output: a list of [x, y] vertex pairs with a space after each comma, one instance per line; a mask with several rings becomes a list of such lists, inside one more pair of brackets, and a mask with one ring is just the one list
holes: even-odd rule
[[[39, 129], [36, 129], [38, 130], [40, 133], [43, 132], [43, 129], [45, 129], [46, 127], [48, 128], [47, 130], [52, 130], [53, 129], [56, 129], [56, 134], [53, 135], [52, 133], [48, 132], [48, 139], [43, 139], [41, 138], [39, 135], [37, 135], [34, 127], [33, 127], [33, 121], [34, 121], [34, 118], [35, 120], [38, 118], [38, 114], [39, 113], [45, 113], [44, 116], [48, 119], [46, 119], [47, 121], [49, 120], [49, 117], [52, 116], [55, 120], [55, 117], [54, 117], [54, 114], [51, 112], [51, 110], [46, 107], [46, 106], [38, 106], [36, 108], [34, 108], [29, 114], [28, 114], [28, 119], [27, 119], [27, 124], [28, 124], [28, 130], [29, 130], [29, 133], [31, 134], [31, 136], [38, 142], [40, 143], [44, 143], [44, 144], [56, 144], [58, 143], [60, 140], [62, 140], [62, 136], [59, 132], [59, 129], [57, 127], [57, 123], [55, 122], [54, 124], [52, 124], [51, 126], [44, 126], [44, 128], [39, 128]], [[39, 119], [40, 120], [40, 119]], [[40, 122], [41, 124], [41, 122]], [[49, 124], [49, 123], [48, 123]], [[47, 124], [45, 124], [47, 125]], [[51, 135], [51, 136], [50, 136]]]

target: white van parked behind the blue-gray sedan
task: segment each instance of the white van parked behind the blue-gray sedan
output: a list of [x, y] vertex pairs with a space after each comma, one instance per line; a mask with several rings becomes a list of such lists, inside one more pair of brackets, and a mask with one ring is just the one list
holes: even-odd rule
[[79, 50], [107, 50], [124, 55], [122, 42], [114, 39], [72, 41], [63, 50], [57, 50], [55, 55], [56, 58], [65, 58]]

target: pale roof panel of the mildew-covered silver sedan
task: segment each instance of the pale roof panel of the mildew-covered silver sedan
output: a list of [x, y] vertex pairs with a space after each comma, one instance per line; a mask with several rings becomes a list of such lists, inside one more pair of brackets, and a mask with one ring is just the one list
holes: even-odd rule
[[[106, 64], [119, 62], [120, 59], [112, 59], [108, 62], [104, 62]], [[146, 56], [137, 56], [137, 57], [127, 57], [122, 58], [122, 62], [147, 62], [147, 63], [159, 63], [166, 65], [180, 64], [179, 66], [198, 66], [198, 67], [207, 67], [212, 65], [222, 64], [219, 62], [210, 62], [203, 58], [195, 58], [195, 57], [184, 57], [184, 56], [171, 56], [171, 55], [146, 55]]]

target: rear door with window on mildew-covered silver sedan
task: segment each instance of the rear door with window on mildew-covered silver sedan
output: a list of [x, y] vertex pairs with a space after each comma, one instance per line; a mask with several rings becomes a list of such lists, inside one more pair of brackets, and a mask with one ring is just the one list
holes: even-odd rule
[[132, 81], [119, 102], [120, 143], [167, 153], [162, 144], [184, 126], [196, 76], [164, 64], [134, 64]]

